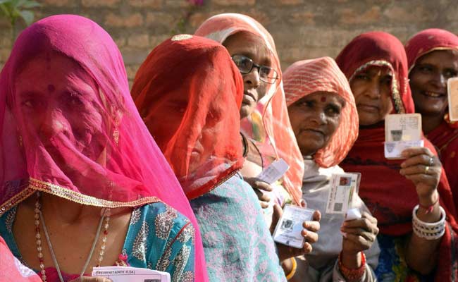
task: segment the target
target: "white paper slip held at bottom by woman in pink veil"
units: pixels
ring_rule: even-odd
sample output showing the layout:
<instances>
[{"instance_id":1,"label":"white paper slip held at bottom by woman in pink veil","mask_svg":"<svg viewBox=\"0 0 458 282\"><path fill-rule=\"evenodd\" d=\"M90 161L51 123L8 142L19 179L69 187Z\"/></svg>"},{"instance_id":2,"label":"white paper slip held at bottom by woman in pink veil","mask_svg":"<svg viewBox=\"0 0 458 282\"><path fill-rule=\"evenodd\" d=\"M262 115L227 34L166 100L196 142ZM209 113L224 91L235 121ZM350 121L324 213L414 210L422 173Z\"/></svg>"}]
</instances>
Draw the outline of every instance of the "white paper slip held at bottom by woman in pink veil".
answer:
<instances>
[{"instance_id":1,"label":"white paper slip held at bottom by woman in pink veil","mask_svg":"<svg viewBox=\"0 0 458 282\"><path fill-rule=\"evenodd\" d=\"M92 269L92 276L110 278L113 282L170 282L170 274L130 266L102 266Z\"/></svg>"}]
</instances>

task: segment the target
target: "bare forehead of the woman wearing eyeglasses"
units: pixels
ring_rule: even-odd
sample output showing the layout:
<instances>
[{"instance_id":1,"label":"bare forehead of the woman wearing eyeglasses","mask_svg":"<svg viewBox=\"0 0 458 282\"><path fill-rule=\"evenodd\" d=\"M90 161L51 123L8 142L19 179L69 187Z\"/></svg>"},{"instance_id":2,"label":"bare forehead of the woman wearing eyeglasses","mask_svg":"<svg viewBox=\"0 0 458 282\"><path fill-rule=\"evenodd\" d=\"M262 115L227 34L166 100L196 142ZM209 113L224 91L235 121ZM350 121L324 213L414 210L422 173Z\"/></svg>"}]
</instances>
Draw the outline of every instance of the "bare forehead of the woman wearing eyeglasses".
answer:
<instances>
[{"instance_id":1,"label":"bare forehead of the woman wearing eyeglasses","mask_svg":"<svg viewBox=\"0 0 458 282\"><path fill-rule=\"evenodd\" d=\"M223 45L228 49L229 54L242 54L249 56L254 61L271 62L271 51L262 37L251 32L237 32L230 35Z\"/></svg>"}]
</instances>

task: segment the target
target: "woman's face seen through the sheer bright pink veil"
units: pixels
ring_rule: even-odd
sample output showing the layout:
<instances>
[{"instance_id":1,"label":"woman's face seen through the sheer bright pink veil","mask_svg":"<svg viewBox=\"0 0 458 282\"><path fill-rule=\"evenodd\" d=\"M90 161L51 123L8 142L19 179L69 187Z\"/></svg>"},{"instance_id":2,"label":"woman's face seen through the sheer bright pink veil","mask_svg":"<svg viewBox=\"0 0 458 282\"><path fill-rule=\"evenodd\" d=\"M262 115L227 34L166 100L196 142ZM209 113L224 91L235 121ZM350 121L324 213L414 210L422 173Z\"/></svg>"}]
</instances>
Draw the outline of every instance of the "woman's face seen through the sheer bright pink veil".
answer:
<instances>
[{"instance_id":1,"label":"woman's face seen through the sheer bright pink veil","mask_svg":"<svg viewBox=\"0 0 458 282\"><path fill-rule=\"evenodd\" d=\"M39 56L27 62L14 87L25 118L22 134L37 136L30 140L41 142L54 159L62 147L99 157L106 135L97 86L78 63L58 54Z\"/></svg>"}]
</instances>

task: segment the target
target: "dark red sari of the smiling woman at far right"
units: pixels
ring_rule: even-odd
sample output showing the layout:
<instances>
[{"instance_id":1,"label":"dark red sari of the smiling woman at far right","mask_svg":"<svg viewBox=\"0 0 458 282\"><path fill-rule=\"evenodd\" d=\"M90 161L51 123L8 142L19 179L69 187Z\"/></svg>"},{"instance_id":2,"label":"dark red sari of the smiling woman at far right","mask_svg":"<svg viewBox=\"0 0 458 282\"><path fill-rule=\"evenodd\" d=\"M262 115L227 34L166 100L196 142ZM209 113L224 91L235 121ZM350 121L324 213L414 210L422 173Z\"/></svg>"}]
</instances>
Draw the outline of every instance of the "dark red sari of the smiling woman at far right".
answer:
<instances>
[{"instance_id":1,"label":"dark red sari of the smiling woman at far right","mask_svg":"<svg viewBox=\"0 0 458 282\"><path fill-rule=\"evenodd\" d=\"M409 39L405 44L409 71L414 68L416 61L422 56L436 50L458 50L458 37L447 30L430 28L423 30ZM447 116L447 115L445 115ZM458 123L451 123L447 118L428 133L428 139L439 151L442 167L447 175L452 194L454 195L455 209L458 207Z\"/></svg>"}]
</instances>

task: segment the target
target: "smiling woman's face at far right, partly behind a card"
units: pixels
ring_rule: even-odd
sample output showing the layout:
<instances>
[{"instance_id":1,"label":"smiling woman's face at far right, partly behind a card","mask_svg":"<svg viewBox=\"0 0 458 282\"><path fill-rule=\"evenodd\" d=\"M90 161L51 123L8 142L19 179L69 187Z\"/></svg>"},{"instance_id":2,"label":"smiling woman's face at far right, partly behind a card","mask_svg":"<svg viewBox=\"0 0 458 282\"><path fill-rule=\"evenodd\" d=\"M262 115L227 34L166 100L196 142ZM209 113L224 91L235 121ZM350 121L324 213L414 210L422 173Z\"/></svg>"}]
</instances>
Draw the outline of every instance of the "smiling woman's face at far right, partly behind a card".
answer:
<instances>
[{"instance_id":1,"label":"smiling woman's face at far right, partly behind a card","mask_svg":"<svg viewBox=\"0 0 458 282\"><path fill-rule=\"evenodd\" d=\"M457 50L437 50L421 56L409 74L416 111L426 116L444 116L447 80L457 75Z\"/></svg>"}]
</instances>

